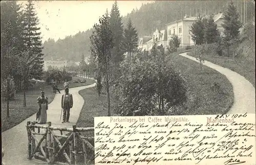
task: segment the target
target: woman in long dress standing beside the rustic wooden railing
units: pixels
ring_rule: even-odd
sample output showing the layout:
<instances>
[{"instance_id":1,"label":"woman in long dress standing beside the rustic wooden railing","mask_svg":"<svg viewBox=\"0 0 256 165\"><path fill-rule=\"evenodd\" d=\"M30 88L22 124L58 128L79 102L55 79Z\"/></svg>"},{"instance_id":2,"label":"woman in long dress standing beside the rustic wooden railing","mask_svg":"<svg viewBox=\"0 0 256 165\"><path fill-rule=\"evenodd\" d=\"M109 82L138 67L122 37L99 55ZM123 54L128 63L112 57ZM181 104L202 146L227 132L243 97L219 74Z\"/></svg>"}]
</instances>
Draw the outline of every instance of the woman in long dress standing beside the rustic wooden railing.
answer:
<instances>
[{"instance_id":1,"label":"woman in long dress standing beside the rustic wooden railing","mask_svg":"<svg viewBox=\"0 0 256 165\"><path fill-rule=\"evenodd\" d=\"M41 96L37 98L38 112L36 117L38 124L46 124L47 122L47 110L48 110L48 98L45 97L45 91L41 91Z\"/></svg>"}]
</instances>

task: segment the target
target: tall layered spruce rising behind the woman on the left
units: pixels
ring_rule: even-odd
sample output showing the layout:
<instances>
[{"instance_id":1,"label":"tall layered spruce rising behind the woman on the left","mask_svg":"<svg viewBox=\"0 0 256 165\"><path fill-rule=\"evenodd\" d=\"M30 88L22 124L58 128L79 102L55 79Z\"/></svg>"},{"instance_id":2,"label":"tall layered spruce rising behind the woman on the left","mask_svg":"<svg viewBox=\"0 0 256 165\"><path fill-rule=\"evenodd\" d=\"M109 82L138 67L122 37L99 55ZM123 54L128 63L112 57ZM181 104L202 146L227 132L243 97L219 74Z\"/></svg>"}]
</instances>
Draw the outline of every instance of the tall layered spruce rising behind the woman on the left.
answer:
<instances>
[{"instance_id":1,"label":"tall layered spruce rising behind the woman on the left","mask_svg":"<svg viewBox=\"0 0 256 165\"><path fill-rule=\"evenodd\" d=\"M24 51L30 52L30 56L37 56L35 59L35 65L30 73L30 78L40 79L42 76L42 66L44 61L42 56L42 42L40 37L40 28L38 28L39 20L36 16L34 4L32 1L28 1L26 4L26 9L23 16L23 37L25 42Z\"/></svg>"}]
</instances>

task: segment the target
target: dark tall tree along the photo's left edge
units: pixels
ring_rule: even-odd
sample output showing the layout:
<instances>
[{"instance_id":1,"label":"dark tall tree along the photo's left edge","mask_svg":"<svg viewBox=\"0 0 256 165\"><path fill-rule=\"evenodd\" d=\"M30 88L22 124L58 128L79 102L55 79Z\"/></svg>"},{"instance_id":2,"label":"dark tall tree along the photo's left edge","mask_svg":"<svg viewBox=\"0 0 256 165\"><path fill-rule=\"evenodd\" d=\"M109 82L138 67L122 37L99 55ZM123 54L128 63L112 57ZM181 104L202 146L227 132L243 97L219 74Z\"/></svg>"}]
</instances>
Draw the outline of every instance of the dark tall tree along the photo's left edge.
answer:
<instances>
[{"instance_id":1,"label":"dark tall tree along the photo's left edge","mask_svg":"<svg viewBox=\"0 0 256 165\"><path fill-rule=\"evenodd\" d=\"M11 93L15 93L18 72L19 53L22 48L20 35L20 6L16 1L1 2L1 89L7 99L7 117L9 115L9 100ZM16 82L15 82L16 81ZM21 79L19 79L21 81Z\"/></svg>"}]
</instances>

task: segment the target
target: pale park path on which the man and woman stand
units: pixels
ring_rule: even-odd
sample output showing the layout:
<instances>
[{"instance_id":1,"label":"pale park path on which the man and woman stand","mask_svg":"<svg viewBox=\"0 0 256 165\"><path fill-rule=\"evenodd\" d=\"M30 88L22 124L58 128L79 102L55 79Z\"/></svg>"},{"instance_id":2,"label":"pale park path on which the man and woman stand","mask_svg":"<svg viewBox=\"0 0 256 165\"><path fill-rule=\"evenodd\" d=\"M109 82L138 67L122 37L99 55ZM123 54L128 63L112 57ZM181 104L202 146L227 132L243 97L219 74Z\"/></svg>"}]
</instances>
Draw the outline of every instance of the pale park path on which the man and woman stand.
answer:
<instances>
[{"instance_id":1,"label":"pale park path on which the man and woman stand","mask_svg":"<svg viewBox=\"0 0 256 165\"><path fill-rule=\"evenodd\" d=\"M72 125L76 125L78 120L81 108L83 106L84 100L79 95L78 91L94 87L95 83L92 85L80 86L75 88L70 88L69 92L73 95L74 105L70 110L70 123L62 124L60 119L61 112L61 96L64 93L64 90L61 90L61 93L56 93L53 101L49 104L49 109L47 110L47 120L52 122L53 127L68 127L72 128ZM39 95L39 93L38 93ZM35 98L36 101L36 98ZM2 133L2 148L5 150L3 157L4 165L14 165L14 164L47 164L44 161L32 159L27 159L28 151L28 134L27 134L27 121L35 121L36 115L30 116L28 119L24 120L22 123L17 126L5 131ZM62 117L61 117L62 119Z\"/></svg>"}]
</instances>

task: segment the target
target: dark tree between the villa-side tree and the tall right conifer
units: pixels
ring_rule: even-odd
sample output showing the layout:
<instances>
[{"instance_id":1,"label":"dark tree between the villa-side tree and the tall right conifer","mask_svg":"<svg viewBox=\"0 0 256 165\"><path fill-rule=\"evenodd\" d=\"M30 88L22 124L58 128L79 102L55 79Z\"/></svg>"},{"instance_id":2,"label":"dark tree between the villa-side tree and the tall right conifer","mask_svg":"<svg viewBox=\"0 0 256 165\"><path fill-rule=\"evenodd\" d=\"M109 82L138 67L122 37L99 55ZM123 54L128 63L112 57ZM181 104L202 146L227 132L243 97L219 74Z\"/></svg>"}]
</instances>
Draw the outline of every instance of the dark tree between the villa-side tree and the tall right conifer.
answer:
<instances>
[{"instance_id":1,"label":"dark tree between the villa-side tree and the tall right conifer","mask_svg":"<svg viewBox=\"0 0 256 165\"><path fill-rule=\"evenodd\" d=\"M217 25L214 22L212 16L207 19L204 29L204 39L206 43L213 43L217 41L217 37L219 36L219 31L217 29Z\"/></svg>"}]
</instances>

